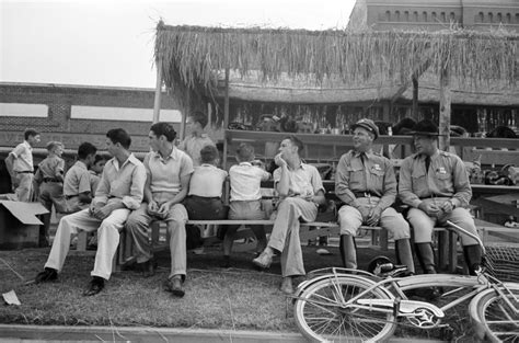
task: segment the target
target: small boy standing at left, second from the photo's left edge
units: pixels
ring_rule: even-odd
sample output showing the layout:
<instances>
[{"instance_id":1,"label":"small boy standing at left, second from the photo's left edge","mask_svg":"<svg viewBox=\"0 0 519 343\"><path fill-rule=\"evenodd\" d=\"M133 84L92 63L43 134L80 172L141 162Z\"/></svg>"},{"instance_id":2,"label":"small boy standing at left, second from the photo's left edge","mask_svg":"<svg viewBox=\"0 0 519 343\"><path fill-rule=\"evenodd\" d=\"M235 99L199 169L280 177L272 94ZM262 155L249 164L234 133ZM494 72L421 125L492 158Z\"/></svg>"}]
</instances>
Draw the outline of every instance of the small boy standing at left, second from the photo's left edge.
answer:
<instances>
[{"instance_id":1,"label":"small boy standing at left, second from the photo's left edge","mask_svg":"<svg viewBox=\"0 0 519 343\"><path fill-rule=\"evenodd\" d=\"M56 213L67 210L64 196L65 160L61 158L64 145L60 141L49 141L47 150L48 156L39 162L38 170L34 175L35 182L39 184L38 201L49 211L43 215L44 225L39 232L39 247L49 245L48 229L53 205Z\"/></svg>"}]
</instances>

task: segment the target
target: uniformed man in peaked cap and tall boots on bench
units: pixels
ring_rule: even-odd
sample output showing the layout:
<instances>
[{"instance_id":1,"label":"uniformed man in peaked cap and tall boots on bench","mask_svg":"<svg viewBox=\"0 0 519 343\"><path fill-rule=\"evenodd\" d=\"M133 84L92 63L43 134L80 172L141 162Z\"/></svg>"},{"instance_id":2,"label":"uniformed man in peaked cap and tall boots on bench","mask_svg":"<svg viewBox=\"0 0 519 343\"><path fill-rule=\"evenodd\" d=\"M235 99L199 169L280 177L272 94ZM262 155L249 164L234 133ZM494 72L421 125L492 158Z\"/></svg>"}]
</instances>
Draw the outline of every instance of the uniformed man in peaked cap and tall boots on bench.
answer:
<instances>
[{"instance_id":1,"label":"uniformed man in peaked cap and tall boots on bench","mask_svg":"<svg viewBox=\"0 0 519 343\"><path fill-rule=\"evenodd\" d=\"M338 211L341 256L347 268L357 268L354 237L359 227L379 225L394 237L396 259L414 273L410 226L391 205L396 198L396 178L391 161L372 150L379 128L371 119L351 126L354 149L341 157L335 174L335 194L346 205Z\"/></svg>"}]
</instances>

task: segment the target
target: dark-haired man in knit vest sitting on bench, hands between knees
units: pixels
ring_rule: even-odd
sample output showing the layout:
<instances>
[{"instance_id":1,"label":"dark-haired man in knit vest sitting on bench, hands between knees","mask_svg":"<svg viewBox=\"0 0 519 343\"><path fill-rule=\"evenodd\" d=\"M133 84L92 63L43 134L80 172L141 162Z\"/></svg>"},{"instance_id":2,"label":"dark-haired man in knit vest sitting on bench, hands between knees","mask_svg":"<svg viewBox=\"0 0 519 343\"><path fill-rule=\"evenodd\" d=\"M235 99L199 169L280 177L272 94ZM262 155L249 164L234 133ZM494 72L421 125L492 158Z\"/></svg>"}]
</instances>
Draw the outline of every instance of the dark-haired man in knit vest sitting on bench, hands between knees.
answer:
<instances>
[{"instance_id":1,"label":"dark-haired man in knit vest sitting on bench, hands between knees","mask_svg":"<svg viewBox=\"0 0 519 343\"><path fill-rule=\"evenodd\" d=\"M193 161L173 145L176 133L168 123L155 123L148 135L152 152L145 157L147 173L145 202L130 214L126 229L134 238L137 263L145 276L154 272L153 252L148 240L148 227L153 219L165 220L170 233L171 273L165 289L183 297L186 275L187 211L181 203L187 195L193 174Z\"/></svg>"}]
</instances>

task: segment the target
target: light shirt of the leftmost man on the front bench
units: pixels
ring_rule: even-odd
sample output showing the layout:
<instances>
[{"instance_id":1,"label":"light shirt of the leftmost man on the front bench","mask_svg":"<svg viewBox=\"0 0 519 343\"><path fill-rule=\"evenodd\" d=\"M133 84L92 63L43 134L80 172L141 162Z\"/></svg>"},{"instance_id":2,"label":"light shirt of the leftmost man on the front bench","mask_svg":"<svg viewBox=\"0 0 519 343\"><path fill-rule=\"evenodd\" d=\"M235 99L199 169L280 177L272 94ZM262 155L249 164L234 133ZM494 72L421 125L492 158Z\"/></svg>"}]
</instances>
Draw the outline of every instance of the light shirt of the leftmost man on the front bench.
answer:
<instances>
[{"instance_id":1,"label":"light shirt of the leftmost man on the front bench","mask_svg":"<svg viewBox=\"0 0 519 343\"><path fill-rule=\"evenodd\" d=\"M129 209L137 209L145 195L146 168L132 153L119 165L116 158L104 165L92 203L111 204L122 201Z\"/></svg>"}]
</instances>

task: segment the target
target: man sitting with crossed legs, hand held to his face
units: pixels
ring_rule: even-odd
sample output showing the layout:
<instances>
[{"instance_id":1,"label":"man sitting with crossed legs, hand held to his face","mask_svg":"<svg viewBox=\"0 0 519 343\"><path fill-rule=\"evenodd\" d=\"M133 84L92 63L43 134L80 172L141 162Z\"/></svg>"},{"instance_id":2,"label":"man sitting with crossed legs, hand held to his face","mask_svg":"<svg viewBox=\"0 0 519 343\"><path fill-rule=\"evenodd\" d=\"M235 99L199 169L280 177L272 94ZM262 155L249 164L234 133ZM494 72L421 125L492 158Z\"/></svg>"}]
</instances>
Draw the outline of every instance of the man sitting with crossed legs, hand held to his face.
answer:
<instances>
[{"instance_id":1,"label":"man sitting with crossed legs, hand held to his face","mask_svg":"<svg viewBox=\"0 0 519 343\"><path fill-rule=\"evenodd\" d=\"M293 276L305 274L299 241L299 219L314 221L318 206L325 201L321 175L315 167L301 161L302 150L302 141L289 136L281 141L280 152L274 158L279 167L274 171L274 186L280 198L277 217L267 248L253 260L256 266L267 268L274 255L281 253L280 290L285 294L293 293Z\"/></svg>"}]
</instances>

